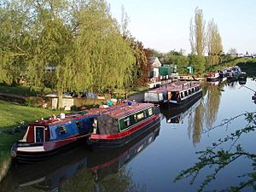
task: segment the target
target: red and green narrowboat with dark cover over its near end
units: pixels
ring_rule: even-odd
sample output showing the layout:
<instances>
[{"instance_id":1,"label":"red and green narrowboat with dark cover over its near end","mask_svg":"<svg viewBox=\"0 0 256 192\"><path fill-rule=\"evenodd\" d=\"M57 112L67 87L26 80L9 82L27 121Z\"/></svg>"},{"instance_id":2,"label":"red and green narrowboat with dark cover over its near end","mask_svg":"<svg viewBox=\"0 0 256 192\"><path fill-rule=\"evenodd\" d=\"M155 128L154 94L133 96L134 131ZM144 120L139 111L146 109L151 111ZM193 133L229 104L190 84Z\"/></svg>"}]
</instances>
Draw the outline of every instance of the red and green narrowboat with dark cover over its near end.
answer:
<instances>
[{"instance_id":1,"label":"red and green narrowboat with dark cover over its near end","mask_svg":"<svg viewBox=\"0 0 256 192\"><path fill-rule=\"evenodd\" d=\"M159 121L158 106L128 102L121 108L113 108L96 116L94 130L87 143L92 150L121 147Z\"/></svg>"}]
</instances>

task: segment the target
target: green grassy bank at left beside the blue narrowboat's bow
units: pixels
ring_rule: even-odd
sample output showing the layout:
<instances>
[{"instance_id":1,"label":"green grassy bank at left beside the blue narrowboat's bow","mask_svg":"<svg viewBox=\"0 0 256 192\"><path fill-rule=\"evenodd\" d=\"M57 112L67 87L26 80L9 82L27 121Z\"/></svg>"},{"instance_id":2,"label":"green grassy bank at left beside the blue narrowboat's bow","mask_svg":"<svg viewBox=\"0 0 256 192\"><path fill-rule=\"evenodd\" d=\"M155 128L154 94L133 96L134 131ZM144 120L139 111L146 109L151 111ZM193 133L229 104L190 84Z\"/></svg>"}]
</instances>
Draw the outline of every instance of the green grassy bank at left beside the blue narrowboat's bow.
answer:
<instances>
[{"instance_id":1,"label":"green grassy bank at left beside the blue narrowboat's bow","mask_svg":"<svg viewBox=\"0 0 256 192\"><path fill-rule=\"evenodd\" d=\"M11 102L0 101L0 181L4 172L8 169L9 150L13 143L23 137L28 122L42 117L49 117L52 113L49 109L30 108Z\"/></svg>"}]
</instances>

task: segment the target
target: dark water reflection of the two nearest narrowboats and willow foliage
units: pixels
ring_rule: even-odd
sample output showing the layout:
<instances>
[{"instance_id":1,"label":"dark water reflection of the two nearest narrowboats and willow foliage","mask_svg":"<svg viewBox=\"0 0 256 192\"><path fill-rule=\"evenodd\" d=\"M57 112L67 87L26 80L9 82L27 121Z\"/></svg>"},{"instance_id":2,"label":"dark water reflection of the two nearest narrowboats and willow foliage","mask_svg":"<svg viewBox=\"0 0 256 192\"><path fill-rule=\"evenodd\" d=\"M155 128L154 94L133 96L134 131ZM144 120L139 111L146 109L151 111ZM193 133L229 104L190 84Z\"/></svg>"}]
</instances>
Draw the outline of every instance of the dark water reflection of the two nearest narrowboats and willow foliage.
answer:
<instances>
[{"instance_id":1,"label":"dark water reflection of the two nearest narrowboats and willow foliage","mask_svg":"<svg viewBox=\"0 0 256 192\"><path fill-rule=\"evenodd\" d=\"M76 148L53 160L14 166L1 191L143 191L122 167L159 136L160 124L113 150Z\"/></svg>"}]
</instances>

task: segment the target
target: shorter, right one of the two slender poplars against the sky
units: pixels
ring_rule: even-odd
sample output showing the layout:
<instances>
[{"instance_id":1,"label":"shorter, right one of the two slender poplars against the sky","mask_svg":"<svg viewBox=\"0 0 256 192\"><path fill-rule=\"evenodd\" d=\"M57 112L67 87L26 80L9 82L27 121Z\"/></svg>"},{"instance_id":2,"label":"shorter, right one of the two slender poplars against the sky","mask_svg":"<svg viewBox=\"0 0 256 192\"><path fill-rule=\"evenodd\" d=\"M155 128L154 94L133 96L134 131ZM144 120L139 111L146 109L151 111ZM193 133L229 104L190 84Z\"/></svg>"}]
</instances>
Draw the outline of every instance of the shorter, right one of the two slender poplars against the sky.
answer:
<instances>
[{"instance_id":1,"label":"shorter, right one of the two slender poplars against the sky","mask_svg":"<svg viewBox=\"0 0 256 192\"><path fill-rule=\"evenodd\" d=\"M207 26L207 50L209 66L217 65L223 52L223 46L218 26L214 20L210 20Z\"/></svg>"}]
</instances>

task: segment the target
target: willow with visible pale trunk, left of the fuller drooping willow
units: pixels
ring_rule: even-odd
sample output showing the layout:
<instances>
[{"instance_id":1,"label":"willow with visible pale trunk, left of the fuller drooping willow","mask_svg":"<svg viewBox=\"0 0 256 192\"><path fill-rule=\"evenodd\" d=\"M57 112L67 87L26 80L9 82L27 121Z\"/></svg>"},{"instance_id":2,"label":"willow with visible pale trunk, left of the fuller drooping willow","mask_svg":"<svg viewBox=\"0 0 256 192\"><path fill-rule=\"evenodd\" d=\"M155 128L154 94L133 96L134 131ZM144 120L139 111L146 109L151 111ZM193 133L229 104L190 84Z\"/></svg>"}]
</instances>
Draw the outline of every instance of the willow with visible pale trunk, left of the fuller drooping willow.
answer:
<instances>
[{"instance_id":1,"label":"willow with visible pale trunk, left of the fuller drooping willow","mask_svg":"<svg viewBox=\"0 0 256 192\"><path fill-rule=\"evenodd\" d=\"M30 32L32 35L30 57L26 61L28 84L44 87L46 67L55 67L51 78L59 96L61 107L62 93L67 90L70 73L67 73L67 60L72 49L72 31L68 27L68 6L64 0L26 1L30 12ZM47 79L49 81L49 79Z\"/></svg>"}]
</instances>

